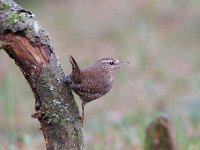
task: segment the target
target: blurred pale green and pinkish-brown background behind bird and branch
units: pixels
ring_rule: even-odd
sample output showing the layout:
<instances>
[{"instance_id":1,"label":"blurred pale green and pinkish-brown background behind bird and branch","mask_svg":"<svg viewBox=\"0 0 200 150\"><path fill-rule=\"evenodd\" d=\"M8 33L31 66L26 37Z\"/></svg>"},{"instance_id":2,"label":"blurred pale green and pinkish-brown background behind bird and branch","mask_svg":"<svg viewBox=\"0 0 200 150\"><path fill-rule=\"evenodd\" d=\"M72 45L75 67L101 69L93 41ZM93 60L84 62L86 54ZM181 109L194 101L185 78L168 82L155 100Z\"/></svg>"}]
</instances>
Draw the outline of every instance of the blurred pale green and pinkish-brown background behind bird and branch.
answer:
<instances>
[{"instance_id":1,"label":"blurred pale green and pinkish-brown background behind bird and branch","mask_svg":"<svg viewBox=\"0 0 200 150\"><path fill-rule=\"evenodd\" d=\"M86 150L143 150L158 115L174 123L180 150L200 148L200 0L24 0L51 37L66 73L102 57L130 61L112 90L86 105ZM79 98L76 101L80 104ZM45 149L34 97L0 51L0 150Z\"/></svg>"}]
</instances>

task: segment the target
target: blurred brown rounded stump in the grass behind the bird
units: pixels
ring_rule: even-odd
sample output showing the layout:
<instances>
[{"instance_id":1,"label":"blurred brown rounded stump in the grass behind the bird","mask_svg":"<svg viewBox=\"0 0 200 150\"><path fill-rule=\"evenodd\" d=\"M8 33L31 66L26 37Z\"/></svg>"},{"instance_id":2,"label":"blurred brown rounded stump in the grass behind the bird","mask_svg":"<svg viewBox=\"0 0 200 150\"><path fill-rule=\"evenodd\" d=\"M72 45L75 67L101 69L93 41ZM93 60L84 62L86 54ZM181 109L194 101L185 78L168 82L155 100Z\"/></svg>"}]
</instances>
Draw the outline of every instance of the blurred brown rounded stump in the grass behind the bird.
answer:
<instances>
[{"instance_id":1,"label":"blurred brown rounded stump in the grass behind the bird","mask_svg":"<svg viewBox=\"0 0 200 150\"><path fill-rule=\"evenodd\" d=\"M146 129L145 150L177 150L175 139L171 121L160 116Z\"/></svg>"}]
</instances>

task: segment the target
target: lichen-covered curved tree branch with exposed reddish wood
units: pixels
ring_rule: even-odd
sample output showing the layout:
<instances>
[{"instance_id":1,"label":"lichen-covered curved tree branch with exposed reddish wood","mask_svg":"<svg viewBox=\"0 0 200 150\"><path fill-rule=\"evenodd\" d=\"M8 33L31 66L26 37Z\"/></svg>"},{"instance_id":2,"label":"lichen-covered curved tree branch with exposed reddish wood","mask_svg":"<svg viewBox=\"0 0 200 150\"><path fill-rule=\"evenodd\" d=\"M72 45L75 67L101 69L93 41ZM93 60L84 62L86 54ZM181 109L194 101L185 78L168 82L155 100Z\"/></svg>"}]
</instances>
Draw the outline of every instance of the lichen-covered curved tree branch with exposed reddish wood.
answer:
<instances>
[{"instance_id":1,"label":"lichen-covered curved tree branch with exposed reddish wood","mask_svg":"<svg viewBox=\"0 0 200 150\"><path fill-rule=\"evenodd\" d=\"M0 49L21 69L35 96L32 116L38 118L48 150L83 149L79 111L48 35L34 15L12 0L0 0Z\"/></svg>"}]
</instances>

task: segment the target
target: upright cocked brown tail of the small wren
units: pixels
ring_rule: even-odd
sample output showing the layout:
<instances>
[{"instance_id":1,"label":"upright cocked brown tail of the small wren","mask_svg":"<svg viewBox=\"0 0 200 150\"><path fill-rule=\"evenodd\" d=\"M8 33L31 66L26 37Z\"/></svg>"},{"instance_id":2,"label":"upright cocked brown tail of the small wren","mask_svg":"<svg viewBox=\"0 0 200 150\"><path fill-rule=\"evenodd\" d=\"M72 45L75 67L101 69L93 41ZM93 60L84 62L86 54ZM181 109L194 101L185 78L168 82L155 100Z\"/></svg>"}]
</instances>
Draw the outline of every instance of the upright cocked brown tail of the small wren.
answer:
<instances>
[{"instance_id":1,"label":"upright cocked brown tail of the small wren","mask_svg":"<svg viewBox=\"0 0 200 150\"><path fill-rule=\"evenodd\" d=\"M69 61L72 65L72 80L74 81L74 83L81 83L81 71L80 68L78 66L78 64L76 63L75 59L69 55Z\"/></svg>"}]
</instances>

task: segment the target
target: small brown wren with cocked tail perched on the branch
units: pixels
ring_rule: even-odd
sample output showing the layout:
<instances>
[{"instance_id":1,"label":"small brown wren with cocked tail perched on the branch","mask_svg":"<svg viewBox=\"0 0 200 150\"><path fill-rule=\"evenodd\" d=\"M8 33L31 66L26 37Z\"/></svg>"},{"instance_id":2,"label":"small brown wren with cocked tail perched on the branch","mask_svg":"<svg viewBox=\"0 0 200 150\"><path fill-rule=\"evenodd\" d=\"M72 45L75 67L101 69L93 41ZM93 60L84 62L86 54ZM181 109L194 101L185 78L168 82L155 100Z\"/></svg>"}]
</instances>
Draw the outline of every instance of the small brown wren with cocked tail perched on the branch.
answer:
<instances>
[{"instance_id":1,"label":"small brown wren with cocked tail perched on the branch","mask_svg":"<svg viewBox=\"0 0 200 150\"><path fill-rule=\"evenodd\" d=\"M82 117L84 120L84 106L90 101L96 100L110 91L115 72L127 61L119 61L113 58L102 58L92 65L79 67L72 56L69 56L72 65L71 74L65 76L64 81L82 100Z\"/></svg>"}]
</instances>

